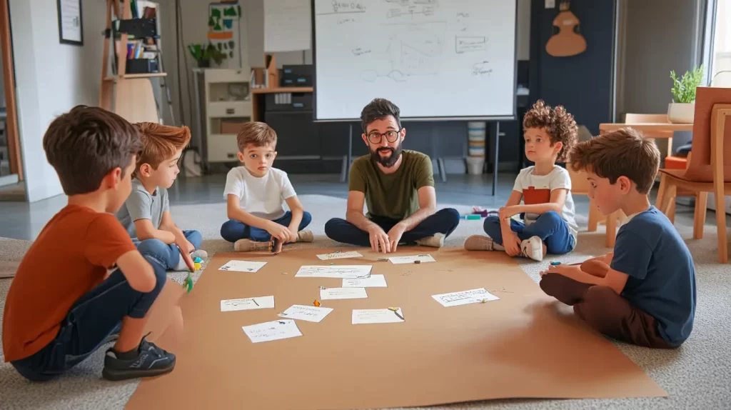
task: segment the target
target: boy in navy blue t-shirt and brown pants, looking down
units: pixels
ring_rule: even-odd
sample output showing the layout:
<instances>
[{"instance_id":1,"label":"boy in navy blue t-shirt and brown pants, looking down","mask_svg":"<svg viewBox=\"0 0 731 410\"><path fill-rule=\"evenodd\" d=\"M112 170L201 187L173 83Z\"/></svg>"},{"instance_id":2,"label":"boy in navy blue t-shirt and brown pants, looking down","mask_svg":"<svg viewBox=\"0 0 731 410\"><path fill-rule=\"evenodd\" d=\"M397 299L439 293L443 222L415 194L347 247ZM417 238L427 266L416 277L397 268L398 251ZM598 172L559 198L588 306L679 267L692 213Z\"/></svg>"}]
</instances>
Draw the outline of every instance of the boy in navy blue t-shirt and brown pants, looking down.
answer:
<instances>
[{"instance_id":1,"label":"boy in navy blue t-shirt and brown pants, looking down","mask_svg":"<svg viewBox=\"0 0 731 410\"><path fill-rule=\"evenodd\" d=\"M585 170L589 197L609 215L627 219L613 253L580 266L552 266L540 286L599 332L627 343L674 348L693 329L695 268L688 247L648 193L660 153L634 129L575 145L572 167Z\"/></svg>"}]
</instances>

